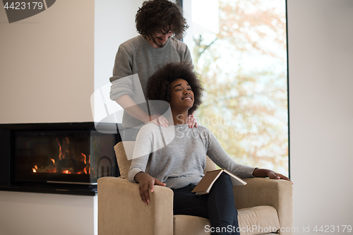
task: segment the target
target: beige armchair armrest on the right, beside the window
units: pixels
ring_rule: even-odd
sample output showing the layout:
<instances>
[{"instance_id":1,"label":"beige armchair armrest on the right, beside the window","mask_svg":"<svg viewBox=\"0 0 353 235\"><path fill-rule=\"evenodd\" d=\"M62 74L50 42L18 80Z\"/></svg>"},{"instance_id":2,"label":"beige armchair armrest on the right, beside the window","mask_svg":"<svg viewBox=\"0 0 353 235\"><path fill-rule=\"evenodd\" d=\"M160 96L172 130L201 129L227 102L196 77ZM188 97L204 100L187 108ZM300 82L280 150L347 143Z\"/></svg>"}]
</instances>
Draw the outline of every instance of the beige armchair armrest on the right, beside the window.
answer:
<instances>
[{"instance_id":1,"label":"beige armchair armrest on the right, beside the window","mask_svg":"<svg viewBox=\"0 0 353 235\"><path fill-rule=\"evenodd\" d=\"M280 234L292 234L293 201L292 183L282 179L251 178L244 179L246 186L233 186L234 200L237 209L270 205L276 208L280 227L284 231Z\"/></svg>"}]
</instances>

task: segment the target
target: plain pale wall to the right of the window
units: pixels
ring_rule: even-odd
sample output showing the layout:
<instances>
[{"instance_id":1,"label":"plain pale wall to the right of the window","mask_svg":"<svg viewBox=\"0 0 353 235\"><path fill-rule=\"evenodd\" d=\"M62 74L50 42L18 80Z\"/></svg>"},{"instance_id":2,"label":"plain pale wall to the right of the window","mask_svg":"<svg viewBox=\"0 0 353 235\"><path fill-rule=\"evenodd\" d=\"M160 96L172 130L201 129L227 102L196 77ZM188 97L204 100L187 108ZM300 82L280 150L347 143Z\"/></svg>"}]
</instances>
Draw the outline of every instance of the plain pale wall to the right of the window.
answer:
<instances>
[{"instance_id":1,"label":"plain pale wall to the right of the window","mask_svg":"<svg viewBox=\"0 0 353 235\"><path fill-rule=\"evenodd\" d=\"M353 1L287 0L287 10L294 227L343 234L353 225Z\"/></svg>"}]
</instances>

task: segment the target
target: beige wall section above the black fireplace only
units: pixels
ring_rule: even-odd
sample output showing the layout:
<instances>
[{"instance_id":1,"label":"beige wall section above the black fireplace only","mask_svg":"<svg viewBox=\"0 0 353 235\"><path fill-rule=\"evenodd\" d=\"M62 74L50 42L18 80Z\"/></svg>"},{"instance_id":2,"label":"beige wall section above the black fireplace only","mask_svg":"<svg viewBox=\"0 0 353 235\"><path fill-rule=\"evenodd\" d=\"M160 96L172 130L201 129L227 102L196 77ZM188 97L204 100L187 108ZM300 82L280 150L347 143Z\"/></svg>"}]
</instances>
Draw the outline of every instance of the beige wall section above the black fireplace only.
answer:
<instances>
[{"instance_id":1,"label":"beige wall section above the black fireplace only","mask_svg":"<svg viewBox=\"0 0 353 235\"><path fill-rule=\"evenodd\" d=\"M92 121L94 11L61 0L9 24L0 7L0 123Z\"/></svg>"}]
</instances>

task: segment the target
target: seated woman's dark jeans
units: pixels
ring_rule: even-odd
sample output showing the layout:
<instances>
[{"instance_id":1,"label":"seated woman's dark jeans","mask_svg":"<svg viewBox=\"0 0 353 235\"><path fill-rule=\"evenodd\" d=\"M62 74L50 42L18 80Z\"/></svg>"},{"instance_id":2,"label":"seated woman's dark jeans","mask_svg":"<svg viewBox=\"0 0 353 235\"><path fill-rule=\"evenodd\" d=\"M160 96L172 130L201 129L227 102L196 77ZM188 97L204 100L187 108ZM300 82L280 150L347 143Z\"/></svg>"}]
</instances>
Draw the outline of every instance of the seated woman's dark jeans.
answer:
<instances>
[{"instance_id":1,"label":"seated woman's dark jeans","mask_svg":"<svg viewBox=\"0 0 353 235\"><path fill-rule=\"evenodd\" d=\"M195 185L173 189L174 215L194 215L210 219L212 234L237 234L238 212L234 205L233 186L230 176L222 173L213 184L210 193L195 195ZM206 228L205 228L206 230ZM220 232L218 232L220 231Z\"/></svg>"}]
</instances>

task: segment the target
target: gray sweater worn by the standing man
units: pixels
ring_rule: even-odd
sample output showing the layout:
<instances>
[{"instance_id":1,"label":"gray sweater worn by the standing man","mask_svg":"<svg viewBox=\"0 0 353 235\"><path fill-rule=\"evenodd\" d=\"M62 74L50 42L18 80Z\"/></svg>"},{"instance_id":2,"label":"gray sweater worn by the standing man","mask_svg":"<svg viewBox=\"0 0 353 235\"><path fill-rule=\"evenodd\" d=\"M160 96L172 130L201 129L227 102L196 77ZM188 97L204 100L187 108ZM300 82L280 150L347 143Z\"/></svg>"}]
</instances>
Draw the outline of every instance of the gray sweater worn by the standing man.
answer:
<instances>
[{"instance_id":1,"label":"gray sweater worn by the standing man","mask_svg":"<svg viewBox=\"0 0 353 235\"><path fill-rule=\"evenodd\" d=\"M110 78L110 99L129 95L148 113L146 86L158 66L169 62L190 61L191 54L184 42L170 38L164 47L154 48L142 35L122 43L116 53L113 76ZM123 126L136 127L144 123L124 112Z\"/></svg>"}]
</instances>

